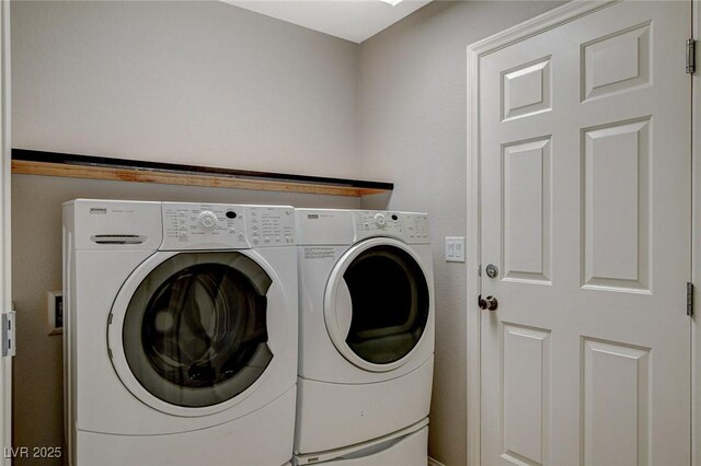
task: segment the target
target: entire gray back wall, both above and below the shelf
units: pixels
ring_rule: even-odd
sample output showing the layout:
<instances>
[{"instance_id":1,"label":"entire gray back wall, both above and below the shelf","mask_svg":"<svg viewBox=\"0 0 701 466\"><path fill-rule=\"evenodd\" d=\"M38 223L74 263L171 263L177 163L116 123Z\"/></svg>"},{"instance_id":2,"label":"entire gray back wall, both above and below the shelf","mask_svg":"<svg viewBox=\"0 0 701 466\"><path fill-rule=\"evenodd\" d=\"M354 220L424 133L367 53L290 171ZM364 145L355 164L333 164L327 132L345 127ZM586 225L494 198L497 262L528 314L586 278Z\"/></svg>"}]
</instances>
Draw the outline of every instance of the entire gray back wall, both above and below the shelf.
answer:
<instances>
[{"instance_id":1,"label":"entire gray back wall, both above and below the shelf","mask_svg":"<svg viewBox=\"0 0 701 466\"><path fill-rule=\"evenodd\" d=\"M357 45L220 2L13 2L18 148L356 177ZM14 175L14 445L62 444L60 205L355 198ZM16 464L39 461L18 461ZM59 462L55 462L59 464Z\"/></svg>"}]
</instances>

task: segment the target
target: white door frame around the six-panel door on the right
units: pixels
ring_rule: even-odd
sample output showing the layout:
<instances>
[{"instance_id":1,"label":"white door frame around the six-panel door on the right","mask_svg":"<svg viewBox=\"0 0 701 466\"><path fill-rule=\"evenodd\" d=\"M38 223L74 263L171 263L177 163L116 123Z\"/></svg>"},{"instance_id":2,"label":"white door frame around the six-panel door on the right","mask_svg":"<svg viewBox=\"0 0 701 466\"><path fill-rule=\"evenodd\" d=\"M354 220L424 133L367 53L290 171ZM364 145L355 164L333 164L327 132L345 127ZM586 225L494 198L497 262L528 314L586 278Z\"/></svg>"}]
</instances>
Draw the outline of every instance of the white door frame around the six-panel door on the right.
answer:
<instances>
[{"instance_id":1,"label":"white door frame around the six-panel door on the right","mask_svg":"<svg viewBox=\"0 0 701 466\"><path fill-rule=\"evenodd\" d=\"M480 329L482 313L478 307L476 298L480 294L479 267L480 258L480 151L478 125L480 115L479 101L479 60L480 57L494 53L517 42L527 39L537 34L554 28L562 24L589 14L601 8L609 7L620 0L614 1L579 1L574 0L565 3L544 14L536 16L529 21L514 27L497 33L491 37L472 44L468 47L468 176L467 176L467 343L468 343L468 465L480 465ZM692 0L693 36L699 37L701 32L701 0ZM681 50L683 44L679 45ZM681 51L679 54L682 57ZM680 60L679 66L683 66ZM701 82L699 73L693 77L693 179L692 179L692 238L699 238L701 234L701 202L693 201L701 196L701 144L698 142L701 137ZM701 246L698 241L692 245L692 281L697 288L701 286ZM697 291L697 296L701 294ZM701 298L700 298L701 299ZM701 311L698 311L701 314ZM692 323L692 393L701 389L701 316L697 316ZM699 439L699 427L701 427L701 397L692 399L692 453L691 462L693 466L701 466L701 439Z\"/></svg>"}]
</instances>

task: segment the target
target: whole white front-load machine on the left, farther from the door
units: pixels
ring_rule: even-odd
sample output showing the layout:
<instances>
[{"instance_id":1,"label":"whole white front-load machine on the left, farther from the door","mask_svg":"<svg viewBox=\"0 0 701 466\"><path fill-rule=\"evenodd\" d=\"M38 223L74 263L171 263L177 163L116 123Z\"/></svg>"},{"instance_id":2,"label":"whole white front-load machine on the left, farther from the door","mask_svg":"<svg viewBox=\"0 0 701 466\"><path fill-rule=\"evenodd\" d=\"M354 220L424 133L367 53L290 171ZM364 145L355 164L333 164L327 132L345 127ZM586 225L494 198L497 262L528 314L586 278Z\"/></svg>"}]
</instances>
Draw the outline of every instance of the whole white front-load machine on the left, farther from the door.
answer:
<instances>
[{"instance_id":1,"label":"whole white front-load machine on the left, farther from the door","mask_svg":"<svg viewBox=\"0 0 701 466\"><path fill-rule=\"evenodd\" d=\"M70 201L64 278L71 465L291 458L292 208Z\"/></svg>"}]
</instances>

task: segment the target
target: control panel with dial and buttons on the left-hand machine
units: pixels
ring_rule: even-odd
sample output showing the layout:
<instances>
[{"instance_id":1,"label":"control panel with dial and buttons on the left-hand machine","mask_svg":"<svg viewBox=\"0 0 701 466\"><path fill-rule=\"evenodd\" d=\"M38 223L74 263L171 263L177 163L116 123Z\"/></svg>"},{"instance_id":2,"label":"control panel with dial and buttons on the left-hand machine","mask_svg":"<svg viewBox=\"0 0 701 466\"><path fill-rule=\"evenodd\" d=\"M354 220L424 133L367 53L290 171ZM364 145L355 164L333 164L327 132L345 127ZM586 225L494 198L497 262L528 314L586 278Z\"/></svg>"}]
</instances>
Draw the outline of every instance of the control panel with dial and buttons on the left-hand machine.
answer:
<instances>
[{"instance_id":1,"label":"control panel with dial and buttons on the left-hand machine","mask_svg":"<svg viewBox=\"0 0 701 466\"><path fill-rule=\"evenodd\" d=\"M222 249L295 244L294 208L163 202L161 249Z\"/></svg>"}]
</instances>

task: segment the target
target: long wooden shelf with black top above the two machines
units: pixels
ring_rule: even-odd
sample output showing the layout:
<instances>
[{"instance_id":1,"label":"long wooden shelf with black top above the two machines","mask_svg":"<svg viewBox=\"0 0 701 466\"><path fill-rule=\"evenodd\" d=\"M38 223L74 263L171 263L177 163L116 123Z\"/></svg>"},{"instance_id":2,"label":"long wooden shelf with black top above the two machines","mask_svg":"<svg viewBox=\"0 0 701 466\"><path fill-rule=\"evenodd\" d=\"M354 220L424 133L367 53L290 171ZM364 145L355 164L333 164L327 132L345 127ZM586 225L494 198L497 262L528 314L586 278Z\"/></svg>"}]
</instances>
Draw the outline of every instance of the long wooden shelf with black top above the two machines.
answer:
<instances>
[{"instance_id":1,"label":"long wooden shelf with black top above the two machines","mask_svg":"<svg viewBox=\"0 0 701 466\"><path fill-rule=\"evenodd\" d=\"M12 173L354 197L389 193L394 188L392 183L382 182L251 172L27 149L12 149Z\"/></svg>"}]
</instances>

